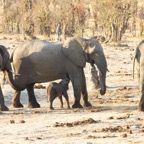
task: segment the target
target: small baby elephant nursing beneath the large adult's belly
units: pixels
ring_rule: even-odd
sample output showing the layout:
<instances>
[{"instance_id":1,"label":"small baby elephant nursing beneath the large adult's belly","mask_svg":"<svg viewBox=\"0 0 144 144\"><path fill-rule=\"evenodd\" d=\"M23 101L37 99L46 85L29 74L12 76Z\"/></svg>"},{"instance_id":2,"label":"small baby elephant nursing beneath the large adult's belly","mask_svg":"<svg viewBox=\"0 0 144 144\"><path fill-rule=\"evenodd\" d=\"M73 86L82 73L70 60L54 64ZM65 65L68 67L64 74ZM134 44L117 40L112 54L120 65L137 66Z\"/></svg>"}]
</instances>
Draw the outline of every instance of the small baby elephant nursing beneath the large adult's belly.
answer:
<instances>
[{"instance_id":1,"label":"small baby elephant nursing beneath the large adult's belly","mask_svg":"<svg viewBox=\"0 0 144 144\"><path fill-rule=\"evenodd\" d=\"M69 106L69 98L67 94L68 84L69 84L69 79L65 78L62 79L59 83L52 82L49 84L47 88L47 97L49 98L50 101L50 109L53 110L53 101L56 97L59 98L61 105L60 107L63 108L63 100L62 100L62 95L65 97L66 102L67 102L67 107L70 108Z\"/></svg>"}]
</instances>

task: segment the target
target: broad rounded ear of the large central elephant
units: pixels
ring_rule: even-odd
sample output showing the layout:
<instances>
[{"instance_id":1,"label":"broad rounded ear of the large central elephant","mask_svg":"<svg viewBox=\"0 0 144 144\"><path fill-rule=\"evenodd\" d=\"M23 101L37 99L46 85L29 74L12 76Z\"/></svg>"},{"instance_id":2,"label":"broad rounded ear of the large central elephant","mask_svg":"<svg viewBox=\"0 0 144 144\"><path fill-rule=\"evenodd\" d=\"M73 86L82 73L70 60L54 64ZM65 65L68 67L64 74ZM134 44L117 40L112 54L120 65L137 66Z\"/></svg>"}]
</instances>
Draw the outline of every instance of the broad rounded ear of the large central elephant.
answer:
<instances>
[{"instance_id":1,"label":"broad rounded ear of the large central elephant","mask_svg":"<svg viewBox=\"0 0 144 144\"><path fill-rule=\"evenodd\" d=\"M80 67L85 67L86 60L84 57L83 47L75 38L70 38L63 44L63 53L70 61Z\"/></svg>"}]
</instances>

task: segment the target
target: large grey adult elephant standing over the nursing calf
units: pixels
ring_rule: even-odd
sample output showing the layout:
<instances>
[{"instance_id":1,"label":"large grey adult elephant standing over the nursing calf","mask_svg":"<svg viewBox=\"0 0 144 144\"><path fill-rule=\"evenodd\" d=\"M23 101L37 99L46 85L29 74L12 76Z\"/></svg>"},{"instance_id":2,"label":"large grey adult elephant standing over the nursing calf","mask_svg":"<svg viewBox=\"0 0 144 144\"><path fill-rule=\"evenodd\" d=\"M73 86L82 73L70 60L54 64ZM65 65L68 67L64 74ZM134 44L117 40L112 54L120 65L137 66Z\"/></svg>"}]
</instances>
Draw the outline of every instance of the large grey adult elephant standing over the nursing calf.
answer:
<instances>
[{"instance_id":1,"label":"large grey adult elephant standing over the nursing calf","mask_svg":"<svg viewBox=\"0 0 144 144\"><path fill-rule=\"evenodd\" d=\"M12 104L22 107L20 91L27 89L29 107L38 108L34 94L34 84L63 79L68 76L72 82L75 101L73 108L81 108L80 97L84 106L88 101L84 67L86 62L96 64L99 70L100 94L106 92L107 62L101 44L95 39L70 38L64 43L53 43L42 40L30 41L16 48L12 54L16 77L8 72L8 79L15 91Z\"/></svg>"}]
</instances>

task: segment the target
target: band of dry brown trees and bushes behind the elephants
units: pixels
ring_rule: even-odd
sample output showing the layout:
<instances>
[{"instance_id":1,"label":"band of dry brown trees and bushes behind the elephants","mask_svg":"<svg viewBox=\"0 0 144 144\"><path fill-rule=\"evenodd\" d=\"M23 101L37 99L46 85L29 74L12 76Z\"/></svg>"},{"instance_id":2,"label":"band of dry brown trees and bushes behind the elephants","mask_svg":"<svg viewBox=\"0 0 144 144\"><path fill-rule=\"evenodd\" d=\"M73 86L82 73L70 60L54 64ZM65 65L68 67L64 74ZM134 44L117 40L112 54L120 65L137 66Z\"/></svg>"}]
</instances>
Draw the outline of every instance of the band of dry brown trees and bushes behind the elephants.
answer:
<instances>
[{"instance_id":1,"label":"band of dry brown trees and bushes behind the elephants","mask_svg":"<svg viewBox=\"0 0 144 144\"><path fill-rule=\"evenodd\" d=\"M51 37L58 23L63 37L104 35L119 42L129 31L143 36L144 1L0 0L1 33Z\"/></svg>"}]
</instances>

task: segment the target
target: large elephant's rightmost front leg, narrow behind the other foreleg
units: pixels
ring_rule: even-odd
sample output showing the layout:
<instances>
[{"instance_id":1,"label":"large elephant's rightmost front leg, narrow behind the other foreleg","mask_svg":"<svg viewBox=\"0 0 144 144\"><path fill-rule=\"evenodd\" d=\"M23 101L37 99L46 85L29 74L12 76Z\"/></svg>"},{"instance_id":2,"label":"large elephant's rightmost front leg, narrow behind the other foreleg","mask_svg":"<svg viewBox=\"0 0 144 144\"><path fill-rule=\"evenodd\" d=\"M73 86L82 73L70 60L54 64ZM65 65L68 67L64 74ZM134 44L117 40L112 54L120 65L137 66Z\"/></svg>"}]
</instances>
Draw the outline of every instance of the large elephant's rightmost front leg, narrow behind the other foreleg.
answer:
<instances>
[{"instance_id":1,"label":"large elephant's rightmost front leg, narrow behind the other foreleg","mask_svg":"<svg viewBox=\"0 0 144 144\"><path fill-rule=\"evenodd\" d=\"M82 75L82 96L84 100L84 106L85 107L92 107L91 103L88 101L88 92L87 92L87 86L86 86L86 79L83 71Z\"/></svg>"}]
</instances>

